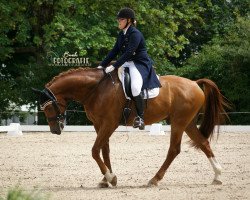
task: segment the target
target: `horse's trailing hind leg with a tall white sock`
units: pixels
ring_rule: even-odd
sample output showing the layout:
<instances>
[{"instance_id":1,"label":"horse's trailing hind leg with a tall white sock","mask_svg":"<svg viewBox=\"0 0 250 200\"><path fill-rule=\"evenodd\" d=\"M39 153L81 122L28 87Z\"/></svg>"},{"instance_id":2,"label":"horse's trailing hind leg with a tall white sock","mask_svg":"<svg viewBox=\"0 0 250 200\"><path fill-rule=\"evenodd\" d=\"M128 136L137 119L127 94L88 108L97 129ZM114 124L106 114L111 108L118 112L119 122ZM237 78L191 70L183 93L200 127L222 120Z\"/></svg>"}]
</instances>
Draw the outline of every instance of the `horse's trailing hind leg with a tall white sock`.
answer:
<instances>
[{"instance_id":1,"label":"horse's trailing hind leg with a tall white sock","mask_svg":"<svg viewBox=\"0 0 250 200\"><path fill-rule=\"evenodd\" d=\"M215 177L212 184L222 184L220 180L221 175L221 165L217 162L215 159L215 156L213 154L213 151L210 147L209 141L207 138L205 138L199 129L197 128L194 121L192 121L188 127L186 128L185 132L187 135L194 141L195 145L200 148L207 156L209 162L211 163Z\"/></svg>"}]
</instances>

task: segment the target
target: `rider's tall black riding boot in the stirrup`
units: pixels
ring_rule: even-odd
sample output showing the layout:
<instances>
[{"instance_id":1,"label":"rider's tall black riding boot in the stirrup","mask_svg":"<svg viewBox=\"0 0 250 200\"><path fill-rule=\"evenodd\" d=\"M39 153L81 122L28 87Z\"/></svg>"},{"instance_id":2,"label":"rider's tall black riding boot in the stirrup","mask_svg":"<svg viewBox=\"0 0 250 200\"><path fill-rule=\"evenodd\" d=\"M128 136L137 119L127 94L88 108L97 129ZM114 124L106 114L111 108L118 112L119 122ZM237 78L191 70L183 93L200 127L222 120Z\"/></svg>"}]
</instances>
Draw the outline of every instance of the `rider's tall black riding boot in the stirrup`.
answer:
<instances>
[{"instance_id":1,"label":"rider's tall black riding boot in the stirrup","mask_svg":"<svg viewBox=\"0 0 250 200\"><path fill-rule=\"evenodd\" d=\"M143 94L140 93L138 96L134 97L135 101L135 108L137 112L137 117L134 120L134 128L138 128L140 130L145 129L145 124L143 120L143 114L144 114L144 99L143 99Z\"/></svg>"}]
</instances>

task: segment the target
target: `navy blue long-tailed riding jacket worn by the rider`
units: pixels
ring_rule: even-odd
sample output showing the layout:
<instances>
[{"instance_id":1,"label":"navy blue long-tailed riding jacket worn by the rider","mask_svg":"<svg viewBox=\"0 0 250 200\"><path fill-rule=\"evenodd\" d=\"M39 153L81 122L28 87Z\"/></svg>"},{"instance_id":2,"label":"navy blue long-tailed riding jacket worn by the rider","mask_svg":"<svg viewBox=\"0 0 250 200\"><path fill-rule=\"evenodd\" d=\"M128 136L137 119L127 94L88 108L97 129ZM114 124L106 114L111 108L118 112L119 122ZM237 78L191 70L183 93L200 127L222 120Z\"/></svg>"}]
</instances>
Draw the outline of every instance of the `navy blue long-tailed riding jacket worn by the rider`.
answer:
<instances>
[{"instance_id":1,"label":"navy blue long-tailed riding jacket worn by the rider","mask_svg":"<svg viewBox=\"0 0 250 200\"><path fill-rule=\"evenodd\" d=\"M161 87L152 66L153 62L147 54L145 39L142 33L134 26L130 26L125 35L123 31L119 32L113 49L100 65L107 67L118 54L120 54L120 57L113 66L119 68L125 62L133 61L143 79L142 90Z\"/></svg>"}]
</instances>

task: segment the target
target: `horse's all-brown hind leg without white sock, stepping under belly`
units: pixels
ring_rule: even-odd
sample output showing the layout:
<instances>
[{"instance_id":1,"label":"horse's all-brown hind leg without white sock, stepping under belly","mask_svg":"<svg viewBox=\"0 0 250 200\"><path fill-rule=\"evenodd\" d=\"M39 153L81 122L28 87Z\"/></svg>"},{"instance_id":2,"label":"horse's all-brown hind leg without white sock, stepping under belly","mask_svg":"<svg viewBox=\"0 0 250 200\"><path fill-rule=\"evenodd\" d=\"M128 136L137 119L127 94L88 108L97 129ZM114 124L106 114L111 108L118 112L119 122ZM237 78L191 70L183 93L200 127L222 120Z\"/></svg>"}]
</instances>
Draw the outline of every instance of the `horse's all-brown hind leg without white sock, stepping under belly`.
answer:
<instances>
[{"instance_id":1,"label":"horse's all-brown hind leg without white sock, stepping under belly","mask_svg":"<svg viewBox=\"0 0 250 200\"><path fill-rule=\"evenodd\" d=\"M182 135L183 130L180 130L175 127L171 128L170 147L168 150L167 158L159 169L159 171L156 173L156 175L149 181L149 186L158 185L158 182L163 178L166 173L166 170L168 169L172 161L180 153Z\"/></svg>"}]
</instances>

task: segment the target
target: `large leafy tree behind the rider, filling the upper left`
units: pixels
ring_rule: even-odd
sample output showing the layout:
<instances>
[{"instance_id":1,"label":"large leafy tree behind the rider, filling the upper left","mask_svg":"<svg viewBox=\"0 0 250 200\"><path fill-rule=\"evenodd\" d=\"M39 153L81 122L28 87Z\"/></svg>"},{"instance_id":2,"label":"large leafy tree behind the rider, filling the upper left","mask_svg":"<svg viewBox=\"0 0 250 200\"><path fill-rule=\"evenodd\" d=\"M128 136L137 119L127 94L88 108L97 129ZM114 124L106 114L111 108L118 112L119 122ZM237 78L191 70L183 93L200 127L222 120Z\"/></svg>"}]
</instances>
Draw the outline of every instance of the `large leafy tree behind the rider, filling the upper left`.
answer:
<instances>
[{"instance_id":1,"label":"large leafy tree behind the rider, filling the upper left","mask_svg":"<svg viewBox=\"0 0 250 200\"><path fill-rule=\"evenodd\" d=\"M177 8L174 10L172 4L165 5L159 0L154 3L146 0L1 1L0 75L3 92L0 100L3 103L0 110L10 109L12 103L16 106L34 104L36 97L30 87L41 89L53 76L70 68L50 66L48 54L51 52L61 56L65 51L77 51L81 56L89 57L92 63L102 60L115 42L119 31L116 14L124 6L136 11L138 28L145 33L156 66L161 63L166 67L168 61L164 58L178 56L188 43L183 35L175 34L178 21L185 15ZM158 69L165 72L163 67Z\"/></svg>"}]
</instances>

